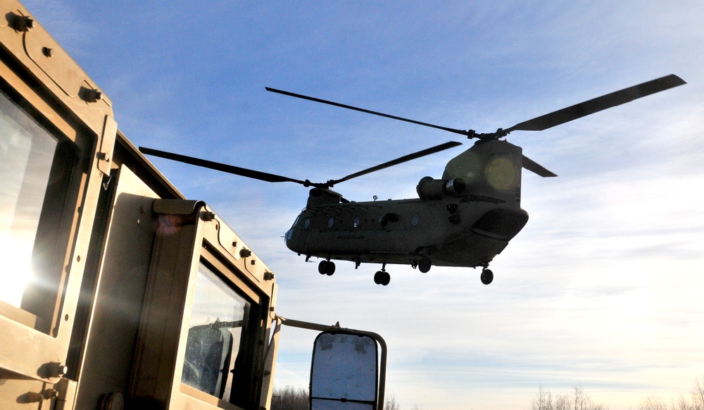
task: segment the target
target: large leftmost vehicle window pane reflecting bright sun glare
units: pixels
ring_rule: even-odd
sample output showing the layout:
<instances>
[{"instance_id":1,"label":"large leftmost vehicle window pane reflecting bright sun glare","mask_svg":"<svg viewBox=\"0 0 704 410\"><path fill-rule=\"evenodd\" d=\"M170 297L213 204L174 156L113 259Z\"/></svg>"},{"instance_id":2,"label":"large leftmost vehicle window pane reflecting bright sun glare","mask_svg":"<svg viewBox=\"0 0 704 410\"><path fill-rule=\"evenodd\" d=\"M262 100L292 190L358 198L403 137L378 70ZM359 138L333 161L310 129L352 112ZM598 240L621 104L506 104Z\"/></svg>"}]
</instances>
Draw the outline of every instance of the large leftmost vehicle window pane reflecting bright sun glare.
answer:
<instances>
[{"instance_id":1,"label":"large leftmost vehicle window pane reflecting bright sun glare","mask_svg":"<svg viewBox=\"0 0 704 410\"><path fill-rule=\"evenodd\" d=\"M0 307L51 314L42 308L46 292L56 296L58 283L46 270L75 163L72 142L52 135L0 93Z\"/></svg>"}]
</instances>

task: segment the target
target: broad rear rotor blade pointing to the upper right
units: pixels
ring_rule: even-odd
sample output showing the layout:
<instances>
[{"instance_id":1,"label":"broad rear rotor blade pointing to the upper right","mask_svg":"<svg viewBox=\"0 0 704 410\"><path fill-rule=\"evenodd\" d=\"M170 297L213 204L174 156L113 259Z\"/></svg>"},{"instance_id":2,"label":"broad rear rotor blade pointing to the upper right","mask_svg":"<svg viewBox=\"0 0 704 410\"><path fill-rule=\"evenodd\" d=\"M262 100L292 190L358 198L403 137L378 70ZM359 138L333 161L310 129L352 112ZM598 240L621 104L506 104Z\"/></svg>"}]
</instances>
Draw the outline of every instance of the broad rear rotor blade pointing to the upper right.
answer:
<instances>
[{"instance_id":1,"label":"broad rear rotor blade pointing to the upper right","mask_svg":"<svg viewBox=\"0 0 704 410\"><path fill-rule=\"evenodd\" d=\"M677 75L666 75L665 77L643 82L643 84L634 85L633 87L628 87L617 92L596 97L595 99L590 99L589 101L584 101L567 108L562 108L558 111L553 111L552 113L533 118L532 120L524 121L514 125L511 128L503 130L503 132L508 133L512 131L547 130L548 128L555 127L555 125L564 124L569 121L576 120L577 118L589 116L590 114L597 113L598 111L603 111L606 108L626 104L634 99L646 97L650 94L665 91L665 89L670 89L683 84L686 84L686 82L680 77L677 77Z\"/></svg>"}]
</instances>

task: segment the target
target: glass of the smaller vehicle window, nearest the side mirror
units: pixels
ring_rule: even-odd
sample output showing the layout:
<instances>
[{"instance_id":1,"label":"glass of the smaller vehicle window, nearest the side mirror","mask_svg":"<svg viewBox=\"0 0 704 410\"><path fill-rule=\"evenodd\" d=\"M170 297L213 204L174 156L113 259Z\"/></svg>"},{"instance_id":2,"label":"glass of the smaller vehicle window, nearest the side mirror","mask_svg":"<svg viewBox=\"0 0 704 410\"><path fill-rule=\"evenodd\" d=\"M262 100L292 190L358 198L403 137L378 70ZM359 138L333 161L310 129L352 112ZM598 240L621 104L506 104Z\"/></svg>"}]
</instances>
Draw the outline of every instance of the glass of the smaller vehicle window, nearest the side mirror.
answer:
<instances>
[{"instance_id":1,"label":"glass of the smaller vehicle window, nearest the side mirror","mask_svg":"<svg viewBox=\"0 0 704 410\"><path fill-rule=\"evenodd\" d=\"M254 309L256 310L256 309ZM256 314L252 303L200 263L181 383L237 404L246 392ZM244 390L244 391L243 391Z\"/></svg>"}]
</instances>

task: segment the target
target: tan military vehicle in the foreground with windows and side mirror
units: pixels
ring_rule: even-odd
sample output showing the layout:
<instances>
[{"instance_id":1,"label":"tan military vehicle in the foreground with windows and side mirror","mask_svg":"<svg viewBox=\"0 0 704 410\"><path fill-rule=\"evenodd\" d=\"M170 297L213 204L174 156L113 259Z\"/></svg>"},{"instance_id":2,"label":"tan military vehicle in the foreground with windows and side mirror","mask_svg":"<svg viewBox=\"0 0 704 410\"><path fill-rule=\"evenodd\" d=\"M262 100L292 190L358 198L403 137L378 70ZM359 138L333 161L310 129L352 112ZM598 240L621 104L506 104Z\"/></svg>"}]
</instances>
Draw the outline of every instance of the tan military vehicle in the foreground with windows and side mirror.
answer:
<instances>
[{"instance_id":1,"label":"tan military vehicle in the foreground with windows and side mirror","mask_svg":"<svg viewBox=\"0 0 704 410\"><path fill-rule=\"evenodd\" d=\"M269 409L282 325L322 332L313 409L382 409L382 337L278 316L252 247L30 11L0 8L0 409Z\"/></svg>"}]
</instances>

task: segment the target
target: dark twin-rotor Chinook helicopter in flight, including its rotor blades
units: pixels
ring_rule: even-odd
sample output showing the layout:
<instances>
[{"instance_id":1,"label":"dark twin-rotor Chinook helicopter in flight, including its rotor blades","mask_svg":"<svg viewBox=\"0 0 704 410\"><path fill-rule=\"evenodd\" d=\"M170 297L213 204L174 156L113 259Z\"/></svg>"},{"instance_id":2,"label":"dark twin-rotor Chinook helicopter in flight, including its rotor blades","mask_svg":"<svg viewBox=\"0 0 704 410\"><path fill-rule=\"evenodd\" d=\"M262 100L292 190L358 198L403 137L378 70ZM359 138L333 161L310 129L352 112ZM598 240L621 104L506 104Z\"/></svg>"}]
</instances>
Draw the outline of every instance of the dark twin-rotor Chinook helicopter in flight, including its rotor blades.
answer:
<instances>
[{"instance_id":1,"label":"dark twin-rotor Chinook helicopter in flight, including its rotor blades","mask_svg":"<svg viewBox=\"0 0 704 410\"><path fill-rule=\"evenodd\" d=\"M378 285L388 285L391 276L386 272L386 264L389 263L410 265L422 273L427 273L431 266L482 267L482 283L489 285L494 280L489 262L528 221L528 213L520 207L521 168L541 177L557 176L524 156L520 147L502 138L514 131L546 130L685 83L677 75L667 75L488 133L441 127L266 88L290 97L476 138L477 142L470 149L447 163L440 179L425 177L418 182L417 199L348 201L331 188L352 178L456 147L459 142L441 144L327 182L298 180L156 149L139 149L144 154L266 182L296 182L313 187L306 208L286 232L285 240L287 247L305 255L306 261L311 256L321 258L318 265L321 274L334 273L332 260L352 261L356 268L361 263L381 263L382 268L375 273L374 281Z\"/></svg>"}]
</instances>

